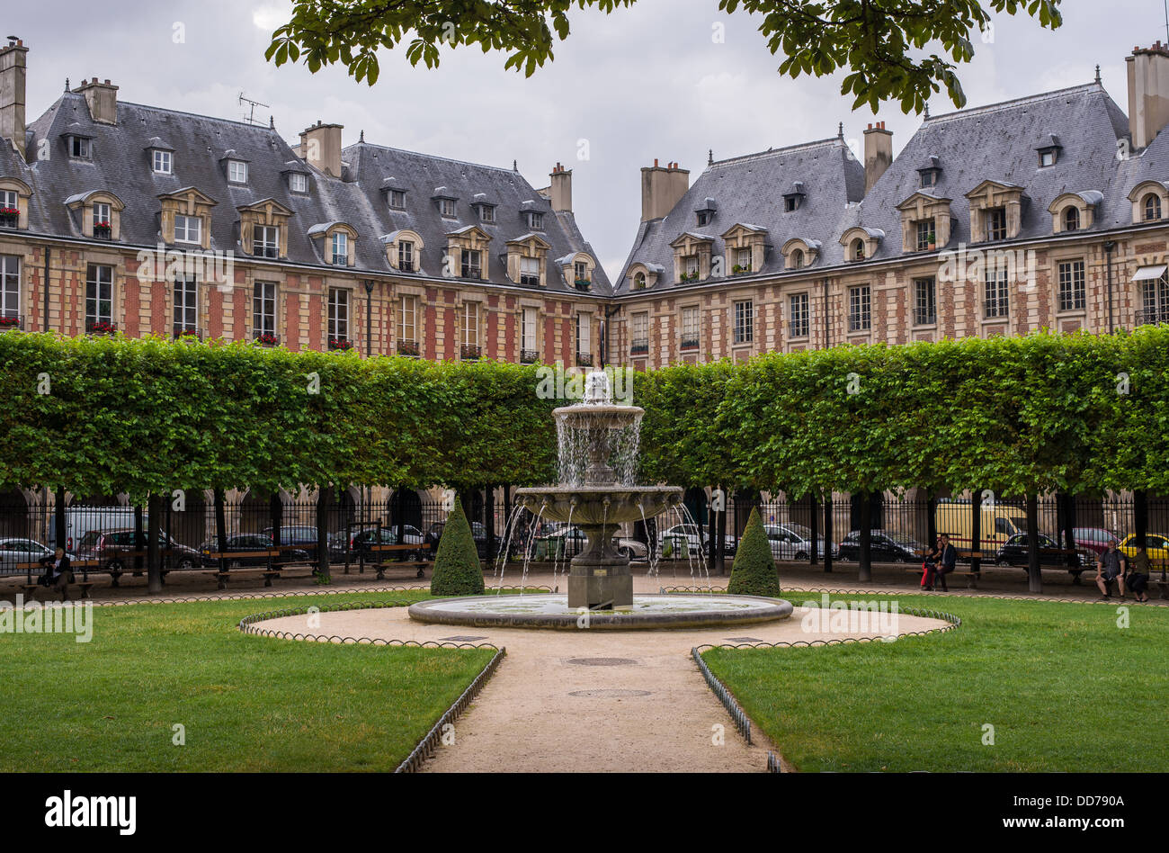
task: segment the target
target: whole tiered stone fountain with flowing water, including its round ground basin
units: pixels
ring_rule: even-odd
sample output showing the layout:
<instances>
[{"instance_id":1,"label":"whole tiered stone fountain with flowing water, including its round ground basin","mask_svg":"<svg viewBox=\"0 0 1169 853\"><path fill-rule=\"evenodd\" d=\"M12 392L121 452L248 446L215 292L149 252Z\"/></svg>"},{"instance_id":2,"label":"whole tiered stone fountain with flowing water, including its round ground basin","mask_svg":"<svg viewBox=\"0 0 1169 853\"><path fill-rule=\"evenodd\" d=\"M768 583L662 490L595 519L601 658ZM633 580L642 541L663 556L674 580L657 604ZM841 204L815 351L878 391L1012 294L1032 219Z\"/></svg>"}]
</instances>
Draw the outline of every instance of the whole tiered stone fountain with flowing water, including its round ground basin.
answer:
<instances>
[{"instance_id":1,"label":"whole tiered stone fountain with flowing water, including its round ground basin","mask_svg":"<svg viewBox=\"0 0 1169 853\"><path fill-rule=\"evenodd\" d=\"M629 559L613 548L621 524L648 521L679 504L676 486L634 482L644 410L615 405L609 377L589 373L581 403L553 412L560 477L555 486L516 491L534 517L579 527L584 550L573 557L568 594L475 596L420 601L411 619L478 627L662 628L784 619L791 605L776 598L727 594L634 597Z\"/></svg>"}]
</instances>

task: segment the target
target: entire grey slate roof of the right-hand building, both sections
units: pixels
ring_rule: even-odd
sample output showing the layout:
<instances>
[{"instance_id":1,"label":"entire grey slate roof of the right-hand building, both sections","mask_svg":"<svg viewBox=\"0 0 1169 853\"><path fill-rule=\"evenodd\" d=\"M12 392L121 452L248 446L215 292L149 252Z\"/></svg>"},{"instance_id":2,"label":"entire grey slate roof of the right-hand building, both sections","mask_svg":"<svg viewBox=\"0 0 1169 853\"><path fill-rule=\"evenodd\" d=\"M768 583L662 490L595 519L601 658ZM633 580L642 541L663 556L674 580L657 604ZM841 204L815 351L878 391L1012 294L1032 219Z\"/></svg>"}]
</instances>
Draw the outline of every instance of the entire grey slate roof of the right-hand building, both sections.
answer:
<instances>
[{"instance_id":1,"label":"entire grey slate roof of the right-hand building, both sections","mask_svg":"<svg viewBox=\"0 0 1169 853\"><path fill-rule=\"evenodd\" d=\"M867 194L863 165L844 156L839 139L714 163L667 216L641 225L617 293L628 293L625 271L634 262L673 269L670 242L694 226L693 209L707 195L718 200L710 231L721 234L734 223L756 222L769 232L772 248L763 269L727 278L728 284L782 270L779 249L797 236L821 241L812 269L844 264L845 248L839 240L851 227L881 235L870 260L899 257L901 214L897 206L919 192L952 200L947 248L969 243L966 193L988 179L1023 187L1028 202L1019 240L1051 235L1047 207L1063 193L1097 201L1091 232L1129 227L1132 204L1127 197L1133 187L1142 180L1169 179L1169 133L1162 132L1144 151L1122 159L1116 156L1118 140L1127 136L1123 110L1093 82L926 118ZM1060 145L1058 161L1040 168L1038 150L1051 145L1053 138ZM919 170L926 167L940 167L941 172L936 185L922 188ZM808 195L798 211L784 213L782 195L794 181L802 181ZM846 204L856 201L860 204ZM721 240L714 252L722 252ZM655 289L663 287L693 283L659 282Z\"/></svg>"}]
</instances>

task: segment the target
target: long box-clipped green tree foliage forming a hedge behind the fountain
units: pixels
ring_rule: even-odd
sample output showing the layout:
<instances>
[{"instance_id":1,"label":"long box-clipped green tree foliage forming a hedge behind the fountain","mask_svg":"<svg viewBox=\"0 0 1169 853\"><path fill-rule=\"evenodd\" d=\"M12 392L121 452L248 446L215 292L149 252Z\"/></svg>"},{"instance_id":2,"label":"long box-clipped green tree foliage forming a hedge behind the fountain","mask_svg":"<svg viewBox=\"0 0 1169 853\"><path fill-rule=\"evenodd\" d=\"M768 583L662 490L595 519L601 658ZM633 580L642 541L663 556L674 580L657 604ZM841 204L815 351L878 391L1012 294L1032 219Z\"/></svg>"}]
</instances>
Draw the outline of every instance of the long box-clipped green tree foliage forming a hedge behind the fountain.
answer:
<instances>
[{"instance_id":1,"label":"long box-clipped green tree foliage forming a hedge behind the fountain","mask_svg":"<svg viewBox=\"0 0 1169 853\"><path fill-rule=\"evenodd\" d=\"M0 488L549 482L563 401L539 381L532 365L4 332ZM770 353L639 373L634 392L645 482L1169 491L1164 328Z\"/></svg>"}]
</instances>

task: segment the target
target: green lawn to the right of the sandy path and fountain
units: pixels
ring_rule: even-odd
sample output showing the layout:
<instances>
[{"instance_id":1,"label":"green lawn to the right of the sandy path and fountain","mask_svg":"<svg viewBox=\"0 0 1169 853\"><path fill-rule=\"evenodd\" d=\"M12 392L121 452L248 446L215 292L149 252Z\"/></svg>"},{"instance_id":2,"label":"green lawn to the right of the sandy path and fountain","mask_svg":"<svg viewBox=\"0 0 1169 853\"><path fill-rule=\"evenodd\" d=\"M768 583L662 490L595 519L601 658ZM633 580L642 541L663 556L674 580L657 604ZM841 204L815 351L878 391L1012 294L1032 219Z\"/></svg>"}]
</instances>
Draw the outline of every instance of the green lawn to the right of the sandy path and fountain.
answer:
<instances>
[{"instance_id":1,"label":"green lawn to the right of the sandy path and fountain","mask_svg":"<svg viewBox=\"0 0 1169 853\"><path fill-rule=\"evenodd\" d=\"M817 594L787 593L793 604ZM837 596L853 600L863 596ZM869 597L881 600L890 597ZM1169 610L897 597L946 634L711 649L753 723L804 771L1169 771ZM983 745L983 725L994 745Z\"/></svg>"}]
</instances>

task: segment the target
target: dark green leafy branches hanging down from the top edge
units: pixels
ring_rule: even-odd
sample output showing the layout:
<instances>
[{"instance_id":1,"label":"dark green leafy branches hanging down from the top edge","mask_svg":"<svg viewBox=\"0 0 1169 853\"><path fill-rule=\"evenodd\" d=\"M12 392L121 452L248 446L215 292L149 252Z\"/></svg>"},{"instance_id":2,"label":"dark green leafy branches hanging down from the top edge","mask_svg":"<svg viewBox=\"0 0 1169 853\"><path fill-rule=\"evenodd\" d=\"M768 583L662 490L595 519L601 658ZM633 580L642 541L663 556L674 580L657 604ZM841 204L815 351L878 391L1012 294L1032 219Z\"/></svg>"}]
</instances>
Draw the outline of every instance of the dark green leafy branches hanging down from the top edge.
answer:
<instances>
[{"instance_id":1,"label":"dark green leafy branches hanging down from the top edge","mask_svg":"<svg viewBox=\"0 0 1169 853\"><path fill-rule=\"evenodd\" d=\"M289 21L272 33L265 59L302 61L316 73L343 64L358 81L378 82L378 51L406 46L410 64L435 68L443 46L507 54L505 68L532 76L569 35L573 7L604 14L635 0L292 0ZM1060 0L719 0L719 11L743 13L782 55L780 74L824 76L845 70L841 92L853 109L873 112L897 101L921 112L934 92L957 106L966 95L957 67L975 41L994 33L991 13L1025 13L1040 27L1063 22ZM713 4L713 0L712 0ZM934 50L934 53L931 53Z\"/></svg>"}]
</instances>

